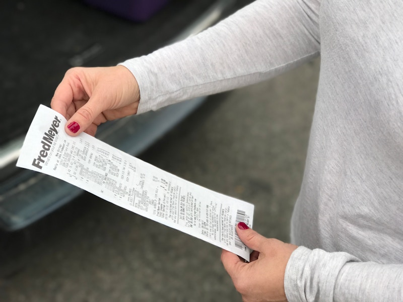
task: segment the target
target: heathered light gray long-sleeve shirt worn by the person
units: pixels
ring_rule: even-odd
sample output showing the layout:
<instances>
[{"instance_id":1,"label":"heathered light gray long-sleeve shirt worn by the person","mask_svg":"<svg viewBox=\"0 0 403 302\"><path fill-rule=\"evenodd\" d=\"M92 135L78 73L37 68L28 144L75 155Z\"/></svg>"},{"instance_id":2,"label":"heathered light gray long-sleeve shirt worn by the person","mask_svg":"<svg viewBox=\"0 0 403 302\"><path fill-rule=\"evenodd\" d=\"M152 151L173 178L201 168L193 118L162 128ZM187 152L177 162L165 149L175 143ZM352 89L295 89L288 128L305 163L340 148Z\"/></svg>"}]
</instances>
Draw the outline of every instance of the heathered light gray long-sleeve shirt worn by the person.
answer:
<instances>
[{"instance_id":1,"label":"heathered light gray long-sleeve shirt worn by the person","mask_svg":"<svg viewBox=\"0 0 403 302\"><path fill-rule=\"evenodd\" d=\"M403 301L402 16L401 0L261 0L123 63L139 83L141 113L320 54L289 301Z\"/></svg>"}]
</instances>

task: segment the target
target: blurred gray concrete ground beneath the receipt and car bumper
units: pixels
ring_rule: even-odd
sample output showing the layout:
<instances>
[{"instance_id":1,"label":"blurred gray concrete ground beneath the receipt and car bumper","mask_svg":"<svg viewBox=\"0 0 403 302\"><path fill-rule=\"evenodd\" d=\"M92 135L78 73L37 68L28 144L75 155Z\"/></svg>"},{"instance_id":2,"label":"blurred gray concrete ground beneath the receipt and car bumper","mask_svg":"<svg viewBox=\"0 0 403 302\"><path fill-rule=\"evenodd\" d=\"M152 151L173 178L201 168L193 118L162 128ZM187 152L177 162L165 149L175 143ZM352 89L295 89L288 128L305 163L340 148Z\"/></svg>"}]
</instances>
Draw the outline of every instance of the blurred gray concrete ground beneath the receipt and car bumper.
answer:
<instances>
[{"instance_id":1,"label":"blurred gray concrete ground beneath the receipt and car bumper","mask_svg":"<svg viewBox=\"0 0 403 302\"><path fill-rule=\"evenodd\" d=\"M254 229L289 239L314 109L319 60L211 97L142 159L255 204ZM7 301L240 301L221 250L85 194L91 208L0 280ZM27 261L28 259L28 261Z\"/></svg>"}]
</instances>

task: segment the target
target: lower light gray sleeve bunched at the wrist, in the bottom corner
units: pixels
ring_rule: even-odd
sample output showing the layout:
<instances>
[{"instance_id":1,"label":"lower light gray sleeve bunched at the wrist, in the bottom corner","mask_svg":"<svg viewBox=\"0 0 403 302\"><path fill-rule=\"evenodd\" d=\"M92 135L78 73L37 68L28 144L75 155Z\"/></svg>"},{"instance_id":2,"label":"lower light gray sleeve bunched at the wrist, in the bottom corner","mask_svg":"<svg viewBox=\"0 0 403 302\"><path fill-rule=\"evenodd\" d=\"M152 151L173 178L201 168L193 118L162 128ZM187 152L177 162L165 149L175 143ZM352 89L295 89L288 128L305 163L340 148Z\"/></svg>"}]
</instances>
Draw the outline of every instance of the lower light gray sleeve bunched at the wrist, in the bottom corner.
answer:
<instances>
[{"instance_id":1,"label":"lower light gray sleeve bunched at the wrist, in the bottom corner","mask_svg":"<svg viewBox=\"0 0 403 302\"><path fill-rule=\"evenodd\" d=\"M284 287L289 302L403 301L403 265L299 247L287 264Z\"/></svg>"}]
</instances>

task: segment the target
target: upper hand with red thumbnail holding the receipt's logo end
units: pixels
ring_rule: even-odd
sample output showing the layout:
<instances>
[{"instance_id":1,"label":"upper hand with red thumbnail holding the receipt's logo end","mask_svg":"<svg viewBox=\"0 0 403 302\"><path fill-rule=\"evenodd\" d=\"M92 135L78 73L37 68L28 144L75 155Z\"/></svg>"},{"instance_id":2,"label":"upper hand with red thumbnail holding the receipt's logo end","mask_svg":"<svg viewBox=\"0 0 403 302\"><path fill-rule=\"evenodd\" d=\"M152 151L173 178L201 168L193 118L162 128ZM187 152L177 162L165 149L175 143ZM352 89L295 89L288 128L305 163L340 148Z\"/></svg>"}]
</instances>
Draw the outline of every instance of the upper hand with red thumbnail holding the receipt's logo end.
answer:
<instances>
[{"instance_id":1,"label":"upper hand with red thumbnail holding the receipt's logo end","mask_svg":"<svg viewBox=\"0 0 403 302\"><path fill-rule=\"evenodd\" d=\"M139 85L124 66L69 69L56 88L51 107L68 122L65 131L95 135L97 127L137 113Z\"/></svg>"}]
</instances>

